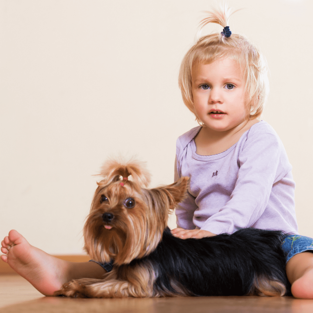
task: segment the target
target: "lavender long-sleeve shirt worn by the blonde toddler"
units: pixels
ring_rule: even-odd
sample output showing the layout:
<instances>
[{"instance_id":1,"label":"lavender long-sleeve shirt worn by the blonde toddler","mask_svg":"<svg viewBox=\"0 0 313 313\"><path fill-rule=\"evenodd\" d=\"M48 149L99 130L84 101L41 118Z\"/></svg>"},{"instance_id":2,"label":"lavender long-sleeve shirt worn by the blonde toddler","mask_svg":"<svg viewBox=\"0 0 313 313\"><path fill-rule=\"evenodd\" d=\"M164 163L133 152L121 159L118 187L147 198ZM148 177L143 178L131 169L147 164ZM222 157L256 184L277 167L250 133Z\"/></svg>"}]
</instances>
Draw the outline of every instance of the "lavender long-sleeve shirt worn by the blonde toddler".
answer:
<instances>
[{"instance_id":1,"label":"lavender long-sleeve shirt worn by the blonde toddler","mask_svg":"<svg viewBox=\"0 0 313 313\"><path fill-rule=\"evenodd\" d=\"M193 138L200 129L177 139L175 181L190 177L188 196L176 208L178 227L215 234L246 227L298 234L295 182L274 129L260 121L232 147L212 156L196 153Z\"/></svg>"}]
</instances>

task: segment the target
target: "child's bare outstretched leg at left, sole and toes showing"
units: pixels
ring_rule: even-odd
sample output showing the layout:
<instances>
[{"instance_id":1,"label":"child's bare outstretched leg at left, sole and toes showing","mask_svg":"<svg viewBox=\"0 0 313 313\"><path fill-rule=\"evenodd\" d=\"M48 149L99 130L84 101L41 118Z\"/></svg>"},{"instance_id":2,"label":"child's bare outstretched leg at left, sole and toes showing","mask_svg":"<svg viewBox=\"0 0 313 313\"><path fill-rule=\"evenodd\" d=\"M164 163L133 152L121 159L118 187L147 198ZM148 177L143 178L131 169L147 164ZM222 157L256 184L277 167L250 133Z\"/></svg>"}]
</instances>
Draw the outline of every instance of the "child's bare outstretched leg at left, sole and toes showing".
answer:
<instances>
[{"instance_id":1,"label":"child's bare outstretched leg at left, sole and toes showing","mask_svg":"<svg viewBox=\"0 0 313 313\"><path fill-rule=\"evenodd\" d=\"M3 239L1 251L6 254L1 256L2 260L43 295L53 295L72 279L100 279L106 273L95 262L76 263L55 258L30 245L16 230L11 230Z\"/></svg>"}]
</instances>

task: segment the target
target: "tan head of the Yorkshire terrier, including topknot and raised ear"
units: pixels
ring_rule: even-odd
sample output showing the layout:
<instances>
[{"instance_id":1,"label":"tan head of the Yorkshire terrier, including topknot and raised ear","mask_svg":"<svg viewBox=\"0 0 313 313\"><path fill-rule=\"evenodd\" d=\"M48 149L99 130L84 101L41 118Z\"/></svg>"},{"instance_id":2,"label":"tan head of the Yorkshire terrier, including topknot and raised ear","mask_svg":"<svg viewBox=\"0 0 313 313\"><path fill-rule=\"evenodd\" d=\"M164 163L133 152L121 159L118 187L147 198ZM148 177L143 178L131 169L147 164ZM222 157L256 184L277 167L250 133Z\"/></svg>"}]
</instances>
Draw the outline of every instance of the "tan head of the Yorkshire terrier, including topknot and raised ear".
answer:
<instances>
[{"instance_id":1,"label":"tan head of the Yorkshire terrier, including topknot and raised ear","mask_svg":"<svg viewBox=\"0 0 313 313\"><path fill-rule=\"evenodd\" d=\"M101 175L84 226L85 250L99 262L128 264L161 241L168 214L185 197L188 177L146 189L150 174L137 161L106 162Z\"/></svg>"}]
</instances>

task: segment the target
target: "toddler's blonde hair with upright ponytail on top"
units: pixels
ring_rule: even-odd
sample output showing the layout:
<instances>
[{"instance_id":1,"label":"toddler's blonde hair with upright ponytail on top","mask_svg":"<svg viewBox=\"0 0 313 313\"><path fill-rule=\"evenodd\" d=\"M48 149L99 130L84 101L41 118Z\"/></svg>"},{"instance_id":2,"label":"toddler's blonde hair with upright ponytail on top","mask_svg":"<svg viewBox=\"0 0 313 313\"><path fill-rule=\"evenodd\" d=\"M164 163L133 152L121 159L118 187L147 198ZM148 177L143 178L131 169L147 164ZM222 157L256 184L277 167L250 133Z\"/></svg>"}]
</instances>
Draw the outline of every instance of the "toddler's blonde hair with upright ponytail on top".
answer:
<instances>
[{"instance_id":1,"label":"toddler's blonde hair with upright ponytail on top","mask_svg":"<svg viewBox=\"0 0 313 313\"><path fill-rule=\"evenodd\" d=\"M236 11L235 11L236 12ZM208 17L200 22L200 29L208 23L216 23L223 27L228 25L231 9L226 5L219 10L213 9ZM196 116L192 97L192 68L199 64L210 64L218 59L230 58L243 69L246 80L245 92L247 104L250 107L249 118L255 119L262 114L264 103L269 92L267 78L267 64L259 49L249 40L238 34L225 37L222 33L214 33L201 37L194 44L182 60L178 84L182 92L182 99L187 108Z\"/></svg>"}]
</instances>

